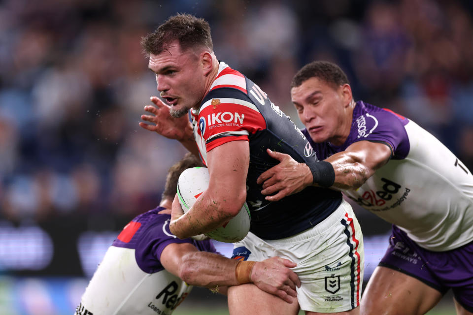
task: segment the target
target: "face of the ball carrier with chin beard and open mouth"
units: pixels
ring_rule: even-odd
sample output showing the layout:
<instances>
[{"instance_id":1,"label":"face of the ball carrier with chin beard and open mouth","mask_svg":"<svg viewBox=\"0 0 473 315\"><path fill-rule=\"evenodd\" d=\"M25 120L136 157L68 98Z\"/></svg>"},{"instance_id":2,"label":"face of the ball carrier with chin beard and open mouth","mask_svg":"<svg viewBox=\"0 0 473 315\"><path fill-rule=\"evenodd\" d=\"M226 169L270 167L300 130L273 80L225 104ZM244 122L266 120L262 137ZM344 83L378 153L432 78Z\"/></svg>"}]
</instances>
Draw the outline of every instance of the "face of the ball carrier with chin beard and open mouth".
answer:
<instances>
[{"instance_id":1,"label":"face of the ball carrier with chin beard and open mouth","mask_svg":"<svg viewBox=\"0 0 473 315\"><path fill-rule=\"evenodd\" d=\"M202 100L205 74L199 61L196 52L182 52L177 43L159 55L149 56L148 67L156 74L157 89L171 106L174 117L185 115Z\"/></svg>"}]
</instances>

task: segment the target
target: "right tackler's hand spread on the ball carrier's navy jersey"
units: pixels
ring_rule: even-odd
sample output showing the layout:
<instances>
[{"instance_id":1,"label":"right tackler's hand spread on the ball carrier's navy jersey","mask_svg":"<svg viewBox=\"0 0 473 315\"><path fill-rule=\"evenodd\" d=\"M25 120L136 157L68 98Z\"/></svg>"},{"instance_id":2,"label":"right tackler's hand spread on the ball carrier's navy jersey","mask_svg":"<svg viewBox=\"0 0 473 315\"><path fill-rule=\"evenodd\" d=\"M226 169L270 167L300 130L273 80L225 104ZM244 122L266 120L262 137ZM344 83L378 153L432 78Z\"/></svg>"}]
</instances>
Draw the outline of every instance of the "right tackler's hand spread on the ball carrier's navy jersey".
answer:
<instances>
[{"instance_id":1,"label":"right tackler's hand spread on the ball carrier's navy jersey","mask_svg":"<svg viewBox=\"0 0 473 315\"><path fill-rule=\"evenodd\" d=\"M263 184L261 193L266 196L268 201L277 201L285 196L299 192L307 186L312 185L313 176L309 167L304 163L298 163L290 155L266 150L271 158L279 161L279 164L271 167L261 174L256 183Z\"/></svg>"}]
</instances>

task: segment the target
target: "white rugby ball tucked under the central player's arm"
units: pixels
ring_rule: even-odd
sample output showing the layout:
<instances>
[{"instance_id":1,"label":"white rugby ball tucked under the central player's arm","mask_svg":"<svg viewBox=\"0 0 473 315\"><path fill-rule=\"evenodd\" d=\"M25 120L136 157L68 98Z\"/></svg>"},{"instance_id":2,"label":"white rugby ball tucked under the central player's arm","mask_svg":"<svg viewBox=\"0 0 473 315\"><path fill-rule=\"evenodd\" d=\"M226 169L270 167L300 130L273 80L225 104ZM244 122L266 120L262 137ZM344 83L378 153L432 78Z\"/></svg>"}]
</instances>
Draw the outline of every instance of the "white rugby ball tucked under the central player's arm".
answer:
<instances>
[{"instance_id":1,"label":"white rugby ball tucked under the central player's arm","mask_svg":"<svg viewBox=\"0 0 473 315\"><path fill-rule=\"evenodd\" d=\"M184 170L177 181L177 196L182 210L186 213L197 198L208 188L208 169L192 167ZM241 241L250 230L250 210L246 202L240 212L226 224L205 233L206 236L219 242L233 243Z\"/></svg>"}]
</instances>

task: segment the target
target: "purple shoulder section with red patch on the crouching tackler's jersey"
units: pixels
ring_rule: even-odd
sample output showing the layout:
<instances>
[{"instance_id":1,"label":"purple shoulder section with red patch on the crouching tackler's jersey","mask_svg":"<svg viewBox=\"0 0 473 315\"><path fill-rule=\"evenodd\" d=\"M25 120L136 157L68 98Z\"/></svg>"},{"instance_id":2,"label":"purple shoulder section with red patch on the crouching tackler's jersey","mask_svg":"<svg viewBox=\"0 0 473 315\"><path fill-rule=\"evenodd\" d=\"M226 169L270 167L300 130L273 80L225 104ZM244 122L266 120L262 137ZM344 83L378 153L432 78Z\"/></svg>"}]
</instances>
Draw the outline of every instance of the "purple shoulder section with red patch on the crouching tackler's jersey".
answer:
<instances>
[{"instance_id":1,"label":"purple shoulder section with red patch on the crouching tackler's jersey","mask_svg":"<svg viewBox=\"0 0 473 315\"><path fill-rule=\"evenodd\" d=\"M161 252L171 243L191 243L202 252L216 252L210 240L179 239L169 230L171 216L158 214L163 207L145 212L130 221L113 241L112 246L135 250L136 263L147 273L163 270Z\"/></svg>"}]
</instances>

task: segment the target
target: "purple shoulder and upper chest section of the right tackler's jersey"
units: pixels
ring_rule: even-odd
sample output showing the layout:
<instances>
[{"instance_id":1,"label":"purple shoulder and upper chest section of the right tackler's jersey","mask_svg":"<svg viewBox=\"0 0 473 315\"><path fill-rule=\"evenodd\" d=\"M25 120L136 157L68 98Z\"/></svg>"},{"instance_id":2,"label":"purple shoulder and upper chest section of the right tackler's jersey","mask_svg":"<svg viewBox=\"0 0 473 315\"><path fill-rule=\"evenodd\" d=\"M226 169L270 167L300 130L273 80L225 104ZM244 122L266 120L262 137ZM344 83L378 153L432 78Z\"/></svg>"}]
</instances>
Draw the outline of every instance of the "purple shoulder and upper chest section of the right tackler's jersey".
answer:
<instances>
[{"instance_id":1,"label":"purple shoulder and upper chest section of the right tackler's jersey","mask_svg":"<svg viewBox=\"0 0 473 315\"><path fill-rule=\"evenodd\" d=\"M317 157L321 160L345 151L352 143L362 140L385 143L391 149L391 158L404 159L409 153L409 138L404 128L408 122L407 118L389 109L357 101L353 109L350 134L341 146L335 146L329 142L315 143L310 138L307 129L302 132L309 139Z\"/></svg>"}]
</instances>

